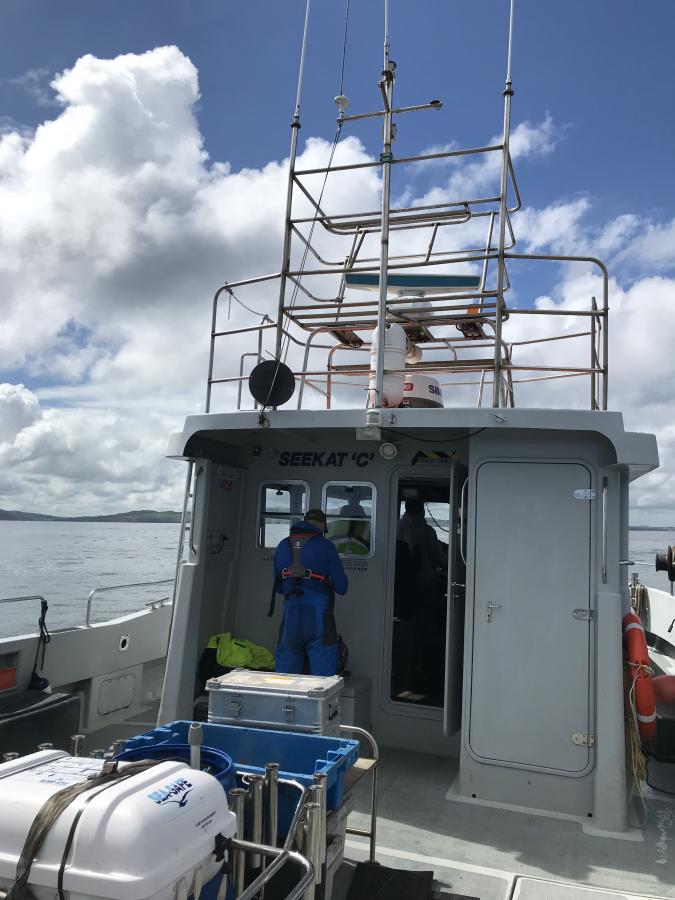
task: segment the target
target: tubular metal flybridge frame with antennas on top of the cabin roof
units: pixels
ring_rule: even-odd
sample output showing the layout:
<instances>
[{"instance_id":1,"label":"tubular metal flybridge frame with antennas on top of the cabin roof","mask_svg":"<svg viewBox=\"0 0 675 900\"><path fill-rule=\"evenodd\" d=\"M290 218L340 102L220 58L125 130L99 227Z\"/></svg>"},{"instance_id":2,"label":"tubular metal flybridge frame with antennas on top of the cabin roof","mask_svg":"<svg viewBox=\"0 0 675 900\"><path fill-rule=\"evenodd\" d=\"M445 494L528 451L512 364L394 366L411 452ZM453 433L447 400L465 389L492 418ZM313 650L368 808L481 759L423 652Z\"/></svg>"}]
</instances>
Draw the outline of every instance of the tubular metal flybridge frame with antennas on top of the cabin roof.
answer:
<instances>
[{"instance_id":1,"label":"tubular metal flybridge frame with antennas on top of the cabin roof","mask_svg":"<svg viewBox=\"0 0 675 900\"><path fill-rule=\"evenodd\" d=\"M316 407L317 402L325 408L337 404L375 410L399 403L513 407L523 393L527 405L550 406L555 405L550 395L533 404L532 383L559 379L582 379L588 385L590 408L606 409L608 273L604 264L591 256L515 251L512 217L522 203L509 150L511 40L500 143L397 157L394 140L399 120L410 121L409 113L438 112L442 103L395 106L398 73L390 57L388 25L385 29L380 108L347 114L350 104L341 81L330 158L326 166L312 169L296 166L301 63L281 268L270 275L226 283L216 292L206 411L215 405L216 392L224 400L218 406L232 405L228 387L236 388L237 409L287 402L298 409ZM303 60L306 41L307 28ZM370 118L382 120L379 157L334 165L345 130ZM405 180L406 167L429 161L479 164L494 158L500 176L493 193L432 204L391 205L391 179L400 173ZM324 200L328 179L331 195L340 197L345 194L340 188L354 173L369 169L381 176L380 209L344 212L328 207ZM479 225L482 239L476 237ZM532 298L521 292L518 306L510 304L512 270L540 263L548 263L549 268L553 264L554 277L562 263L583 267L584 272L595 269L600 275L599 296L589 295L574 309L533 308ZM272 298L277 300L274 320L260 314L255 324L220 326L232 302L256 315L266 301L269 308ZM384 340L378 339L380 334ZM225 361L237 357L238 371L224 369ZM253 402L247 382L251 369L261 362L267 372L263 388L258 387L257 393L252 390L258 397ZM403 391L388 390L387 385L397 379L405 385ZM277 390L281 380L287 390ZM566 393L564 406L569 405Z\"/></svg>"}]
</instances>

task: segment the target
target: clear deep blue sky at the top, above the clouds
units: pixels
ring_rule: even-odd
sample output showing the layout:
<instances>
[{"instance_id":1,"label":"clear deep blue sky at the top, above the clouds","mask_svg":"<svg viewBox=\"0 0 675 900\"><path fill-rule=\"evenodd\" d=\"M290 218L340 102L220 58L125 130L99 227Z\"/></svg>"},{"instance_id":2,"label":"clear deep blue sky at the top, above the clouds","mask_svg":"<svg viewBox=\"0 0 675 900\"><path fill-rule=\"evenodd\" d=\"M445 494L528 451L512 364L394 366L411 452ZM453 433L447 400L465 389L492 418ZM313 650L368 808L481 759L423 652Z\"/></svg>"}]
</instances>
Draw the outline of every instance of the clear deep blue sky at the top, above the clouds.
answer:
<instances>
[{"instance_id":1,"label":"clear deep blue sky at the top, above the clouds","mask_svg":"<svg viewBox=\"0 0 675 900\"><path fill-rule=\"evenodd\" d=\"M84 53L111 57L176 44L199 70L199 123L208 152L235 168L287 151L301 0L5 0L0 33L2 114L28 125L48 108L17 85ZM344 3L314 0L304 134L329 134L339 81ZM501 124L506 0L392 0L392 55L402 102L440 96L447 139L475 145ZM372 108L380 65L381 4L352 0L346 92ZM598 214L672 208L675 146L675 3L518 0L514 120L549 112L569 139L544 167L521 171L531 203L592 191ZM46 87L44 79L42 86ZM401 124L401 146L439 140L437 117Z\"/></svg>"}]
</instances>

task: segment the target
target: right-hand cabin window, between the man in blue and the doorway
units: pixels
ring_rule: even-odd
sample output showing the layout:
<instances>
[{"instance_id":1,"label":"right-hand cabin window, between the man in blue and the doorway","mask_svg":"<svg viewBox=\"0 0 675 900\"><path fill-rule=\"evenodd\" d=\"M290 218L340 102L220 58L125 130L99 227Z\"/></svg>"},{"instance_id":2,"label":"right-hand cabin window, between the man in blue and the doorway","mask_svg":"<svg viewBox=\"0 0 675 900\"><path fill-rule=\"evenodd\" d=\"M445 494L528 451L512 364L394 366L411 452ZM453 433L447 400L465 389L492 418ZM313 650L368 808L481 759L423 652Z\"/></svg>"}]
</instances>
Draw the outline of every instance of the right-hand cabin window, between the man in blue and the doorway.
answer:
<instances>
[{"instance_id":1,"label":"right-hand cabin window, between the man in blue and the doorway","mask_svg":"<svg viewBox=\"0 0 675 900\"><path fill-rule=\"evenodd\" d=\"M329 481L323 488L327 537L343 557L368 557L375 546L375 488L366 482Z\"/></svg>"}]
</instances>

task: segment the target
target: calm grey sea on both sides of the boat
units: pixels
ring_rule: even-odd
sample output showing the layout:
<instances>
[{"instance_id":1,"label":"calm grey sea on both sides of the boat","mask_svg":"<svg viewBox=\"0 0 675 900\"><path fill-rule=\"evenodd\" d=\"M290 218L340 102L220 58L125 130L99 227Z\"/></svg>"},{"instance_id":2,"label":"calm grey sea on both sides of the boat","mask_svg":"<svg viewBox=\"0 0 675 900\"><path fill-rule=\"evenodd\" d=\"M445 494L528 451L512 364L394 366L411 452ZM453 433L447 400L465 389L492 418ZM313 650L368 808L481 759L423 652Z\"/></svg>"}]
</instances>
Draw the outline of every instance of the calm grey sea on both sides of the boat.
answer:
<instances>
[{"instance_id":1,"label":"calm grey sea on both sides of the boat","mask_svg":"<svg viewBox=\"0 0 675 900\"><path fill-rule=\"evenodd\" d=\"M52 628L84 624L92 588L173 578L180 526L123 522L0 522L0 598L42 594ZM654 556L675 544L675 531L631 531L631 559L640 580L669 589ZM142 609L171 585L98 595L93 621ZM0 605L0 636L36 629L39 602Z\"/></svg>"}]
</instances>

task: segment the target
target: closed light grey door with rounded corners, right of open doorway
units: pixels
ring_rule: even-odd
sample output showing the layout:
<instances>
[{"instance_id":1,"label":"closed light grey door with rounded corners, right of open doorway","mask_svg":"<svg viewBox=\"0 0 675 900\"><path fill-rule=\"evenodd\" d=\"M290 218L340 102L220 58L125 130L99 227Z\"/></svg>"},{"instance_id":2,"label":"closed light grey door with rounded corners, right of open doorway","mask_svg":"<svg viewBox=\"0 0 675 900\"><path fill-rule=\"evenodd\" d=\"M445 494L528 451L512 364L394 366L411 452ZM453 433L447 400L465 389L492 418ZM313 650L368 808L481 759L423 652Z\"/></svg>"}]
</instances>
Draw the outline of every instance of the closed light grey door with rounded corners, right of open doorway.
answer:
<instances>
[{"instance_id":1,"label":"closed light grey door with rounded corners, right of open doorway","mask_svg":"<svg viewBox=\"0 0 675 900\"><path fill-rule=\"evenodd\" d=\"M486 462L476 475L469 746L574 773L589 750L591 487L578 463ZM581 618L580 618L581 616Z\"/></svg>"}]
</instances>

